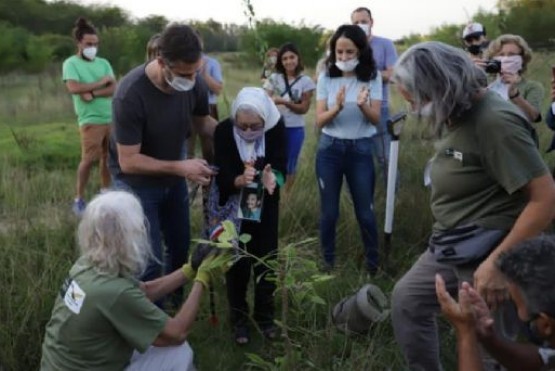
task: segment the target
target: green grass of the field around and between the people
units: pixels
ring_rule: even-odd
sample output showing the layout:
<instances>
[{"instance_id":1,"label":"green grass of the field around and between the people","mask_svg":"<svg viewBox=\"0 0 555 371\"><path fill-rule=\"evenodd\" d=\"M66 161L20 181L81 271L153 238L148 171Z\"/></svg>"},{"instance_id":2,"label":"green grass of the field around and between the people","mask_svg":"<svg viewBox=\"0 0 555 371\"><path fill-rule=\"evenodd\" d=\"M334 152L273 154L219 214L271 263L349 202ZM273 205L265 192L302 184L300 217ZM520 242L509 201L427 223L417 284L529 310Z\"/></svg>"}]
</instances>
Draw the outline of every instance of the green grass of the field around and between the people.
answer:
<instances>
[{"instance_id":1,"label":"green grass of the field around and between the people","mask_svg":"<svg viewBox=\"0 0 555 371\"><path fill-rule=\"evenodd\" d=\"M220 114L229 112L228 103L246 85L259 86L259 70L237 68L236 59L222 58L225 93ZM231 61L231 62L230 62ZM549 66L555 56L535 57L529 68L531 79L549 82ZM231 64L233 63L233 64ZM59 67L59 66L58 66ZM79 160L79 137L69 96L64 92L57 68L36 76L10 75L0 78L0 370L36 369L44 326L58 289L77 256L74 242L76 220L70 213L75 169ZM546 90L547 91L547 90ZM404 103L392 89L393 111ZM313 105L314 106L314 105ZM544 107L547 107L547 99ZM282 205L280 246L318 236L319 200L314 175L317 134L313 130L314 108L306 115L307 139L299 163L293 192ZM550 132L538 124L541 148L547 148ZM422 138L421 127L410 121L400 142L400 188L396 200L393 251L390 262L395 272L375 279L389 293L401 274L423 251L430 232L428 190L422 185L424 164L432 146ZM553 167L553 159L546 156ZM88 195L98 189L92 177ZM385 192L377 178L376 205L379 225L384 220ZM362 246L348 194L341 197L337 225L336 277L315 285L325 305L293 302L288 328L297 356L289 369L399 370L402 356L393 338L391 324L377 325L367 336L346 337L331 324L330 311L341 298L367 282L362 267ZM194 207L193 235L200 230L201 216ZM316 242L297 249L298 259L319 261ZM299 272L299 274L302 272ZM291 293L292 295L294 293ZM267 343L256 335L246 347L233 344L227 323L225 291L217 288L217 313L221 323L208 322L208 300L190 336L201 370L271 369L286 352L284 342ZM281 308L281 297L276 299ZM454 369L453 336L442 324L446 369ZM255 362L249 354L264 362ZM256 357L254 357L256 358ZM255 364L258 364L256 366Z\"/></svg>"}]
</instances>

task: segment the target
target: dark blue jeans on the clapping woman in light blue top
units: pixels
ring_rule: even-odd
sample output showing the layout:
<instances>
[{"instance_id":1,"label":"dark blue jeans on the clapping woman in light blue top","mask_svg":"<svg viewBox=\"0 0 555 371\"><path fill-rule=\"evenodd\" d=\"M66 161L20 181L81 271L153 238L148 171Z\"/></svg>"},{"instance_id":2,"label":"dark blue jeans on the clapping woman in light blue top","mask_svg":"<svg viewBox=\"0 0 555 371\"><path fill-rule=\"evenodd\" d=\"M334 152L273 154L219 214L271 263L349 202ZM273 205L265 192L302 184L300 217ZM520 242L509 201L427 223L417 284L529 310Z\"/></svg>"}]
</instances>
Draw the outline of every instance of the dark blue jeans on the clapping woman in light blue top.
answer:
<instances>
[{"instance_id":1,"label":"dark blue jeans on the clapping woman in light blue top","mask_svg":"<svg viewBox=\"0 0 555 371\"><path fill-rule=\"evenodd\" d=\"M372 139L337 139L322 133L316 155L320 190L320 244L326 264L335 262L335 226L343 177L353 199L360 227L366 267L378 266L378 228L374 215L374 162Z\"/></svg>"}]
</instances>

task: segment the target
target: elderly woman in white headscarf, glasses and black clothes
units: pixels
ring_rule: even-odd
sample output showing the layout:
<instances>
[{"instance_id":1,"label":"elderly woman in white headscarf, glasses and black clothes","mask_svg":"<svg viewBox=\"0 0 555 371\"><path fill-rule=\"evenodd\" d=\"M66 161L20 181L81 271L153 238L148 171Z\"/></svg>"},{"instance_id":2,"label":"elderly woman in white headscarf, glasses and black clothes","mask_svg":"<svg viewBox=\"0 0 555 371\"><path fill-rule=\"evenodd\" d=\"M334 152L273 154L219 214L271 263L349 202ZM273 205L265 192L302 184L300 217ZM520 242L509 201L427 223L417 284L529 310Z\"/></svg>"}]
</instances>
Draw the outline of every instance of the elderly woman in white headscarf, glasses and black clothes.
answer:
<instances>
[{"instance_id":1,"label":"elderly woman in white headscarf, glasses and black clothes","mask_svg":"<svg viewBox=\"0 0 555 371\"><path fill-rule=\"evenodd\" d=\"M244 188L263 195L260 220L240 220L240 232L251 236L245 248L258 258L275 258L278 243L279 188L286 167L285 125L278 109L261 88L243 88L233 102L231 117L214 133L216 184L223 205ZM253 187L254 186L254 187ZM273 292L267 267L243 257L227 273L231 324L238 344L249 342L246 300L251 267L254 271L253 318L267 338L276 336Z\"/></svg>"}]
</instances>

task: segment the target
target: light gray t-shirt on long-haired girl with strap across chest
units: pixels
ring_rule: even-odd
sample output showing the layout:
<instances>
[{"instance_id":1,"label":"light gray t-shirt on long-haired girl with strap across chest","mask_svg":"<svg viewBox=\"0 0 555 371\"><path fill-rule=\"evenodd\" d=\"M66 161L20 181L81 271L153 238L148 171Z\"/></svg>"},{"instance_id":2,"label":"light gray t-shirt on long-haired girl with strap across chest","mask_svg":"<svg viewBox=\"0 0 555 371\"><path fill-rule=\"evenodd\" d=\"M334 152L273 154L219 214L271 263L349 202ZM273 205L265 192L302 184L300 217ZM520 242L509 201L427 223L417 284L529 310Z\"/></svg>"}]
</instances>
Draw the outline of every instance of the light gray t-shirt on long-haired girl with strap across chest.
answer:
<instances>
[{"instance_id":1,"label":"light gray t-shirt on long-haired girl with strap across chest","mask_svg":"<svg viewBox=\"0 0 555 371\"><path fill-rule=\"evenodd\" d=\"M291 94L286 92L287 88L285 86L285 79L281 73L272 73L264 83L264 89L271 91L274 95L281 96L282 98L293 102L300 101L304 93L314 91L316 89L314 81L306 75L300 75L293 80L289 80L289 86ZM297 128L304 126L303 115L299 115L281 104L277 107L283 115L286 127Z\"/></svg>"}]
</instances>

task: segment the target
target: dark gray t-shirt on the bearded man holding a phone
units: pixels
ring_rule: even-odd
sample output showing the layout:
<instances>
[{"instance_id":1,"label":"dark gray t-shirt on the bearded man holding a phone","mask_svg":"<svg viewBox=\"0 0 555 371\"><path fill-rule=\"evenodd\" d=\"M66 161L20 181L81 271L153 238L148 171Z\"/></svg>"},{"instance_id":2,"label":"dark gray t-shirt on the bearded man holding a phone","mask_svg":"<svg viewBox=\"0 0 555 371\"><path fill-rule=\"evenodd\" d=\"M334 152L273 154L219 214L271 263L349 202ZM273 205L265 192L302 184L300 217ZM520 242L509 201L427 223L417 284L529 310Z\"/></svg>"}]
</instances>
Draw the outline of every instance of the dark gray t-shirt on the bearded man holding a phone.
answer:
<instances>
[{"instance_id":1,"label":"dark gray t-shirt on the bearded man holding a phone","mask_svg":"<svg viewBox=\"0 0 555 371\"><path fill-rule=\"evenodd\" d=\"M208 87L197 75L192 90L164 93L147 77L143 64L120 81L112 109L114 126L108 162L112 176L130 186L167 186L179 178L123 173L116 143L140 144L142 154L158 160L182 159L192 117L208 115Z\"/></svg>"}]
</instances>

